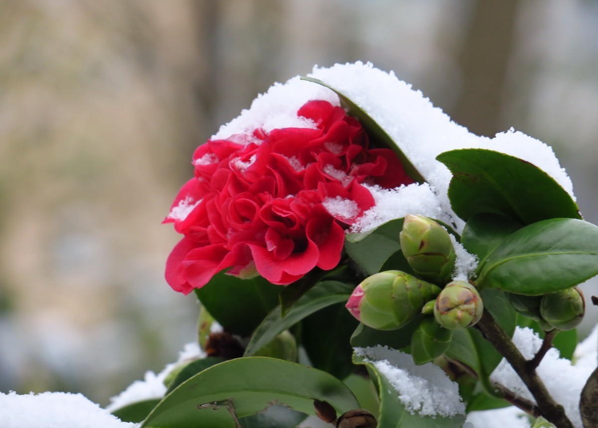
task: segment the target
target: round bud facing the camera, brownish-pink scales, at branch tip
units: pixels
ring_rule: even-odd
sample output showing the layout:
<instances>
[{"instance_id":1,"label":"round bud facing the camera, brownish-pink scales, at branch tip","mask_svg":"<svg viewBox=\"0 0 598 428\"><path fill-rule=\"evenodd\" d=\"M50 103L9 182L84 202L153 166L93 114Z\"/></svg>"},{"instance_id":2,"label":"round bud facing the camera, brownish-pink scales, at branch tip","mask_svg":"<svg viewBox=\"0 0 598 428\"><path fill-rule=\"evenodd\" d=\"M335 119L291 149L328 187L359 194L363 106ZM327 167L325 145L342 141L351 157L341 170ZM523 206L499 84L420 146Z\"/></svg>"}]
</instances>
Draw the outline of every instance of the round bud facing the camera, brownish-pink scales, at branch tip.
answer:
<instances>
[{"instance_id":1,"label":"round bud facing the camera, brownish-pink scales, at branch tip","mask_svg":"<svg viewBox=\"0 0 598 428\"><path fill-rule=\"evenodd\" d=\"M434 317L444 328L455 330L477 323L484 304L474 286L465 281L453 281L440 292L434 305Z\"/></svg>"}]
</instances>

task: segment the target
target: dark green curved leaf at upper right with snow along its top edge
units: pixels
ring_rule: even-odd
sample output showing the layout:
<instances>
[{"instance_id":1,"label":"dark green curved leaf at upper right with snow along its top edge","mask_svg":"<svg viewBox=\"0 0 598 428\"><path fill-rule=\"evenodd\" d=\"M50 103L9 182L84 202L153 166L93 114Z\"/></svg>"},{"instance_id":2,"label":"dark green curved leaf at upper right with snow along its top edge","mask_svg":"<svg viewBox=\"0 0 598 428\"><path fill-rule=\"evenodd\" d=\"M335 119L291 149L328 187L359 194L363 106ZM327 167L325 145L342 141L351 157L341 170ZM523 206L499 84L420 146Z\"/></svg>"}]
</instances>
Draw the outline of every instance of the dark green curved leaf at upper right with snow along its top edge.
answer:
<instances>
[{"instance_id":1,"label":"dark green curved leaf at upper right with snow along its top edge","mask_svg":"<svg viewBox=\"0 0 598 428\"><path fill-rule=\"evenodd\" d=\"M449 199L463 220L478 213L523 224L549 218L581 219L571 195L551 176L520 158L486 149L459 149L436 159L453 173Z\"/></svg>"}]
</instances>

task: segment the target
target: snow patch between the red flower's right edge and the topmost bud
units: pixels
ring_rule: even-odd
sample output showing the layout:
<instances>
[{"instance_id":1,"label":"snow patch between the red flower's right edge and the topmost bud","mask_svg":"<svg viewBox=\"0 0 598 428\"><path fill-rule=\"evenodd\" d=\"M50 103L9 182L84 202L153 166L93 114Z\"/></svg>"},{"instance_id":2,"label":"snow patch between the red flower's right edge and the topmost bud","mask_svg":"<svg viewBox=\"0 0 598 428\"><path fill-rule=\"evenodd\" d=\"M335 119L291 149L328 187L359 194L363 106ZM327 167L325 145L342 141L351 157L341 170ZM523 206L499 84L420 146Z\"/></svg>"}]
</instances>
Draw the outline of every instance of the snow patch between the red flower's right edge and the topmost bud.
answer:
<instances>
[{"instance_id":1,"label":"snow patch between the red flower's right edge and the topmost bud","mask_svg":"<svg viewBox=\"0 0 598 428\"><path fill-rule=\"evenodd\" d=\"M428 184L410 184L396 189L366 187L373 195L376 205L359 218L351 228L351 232L368 232L407 214L420 214L444 222L450 221Z\"/></svg>"}]
</instances>

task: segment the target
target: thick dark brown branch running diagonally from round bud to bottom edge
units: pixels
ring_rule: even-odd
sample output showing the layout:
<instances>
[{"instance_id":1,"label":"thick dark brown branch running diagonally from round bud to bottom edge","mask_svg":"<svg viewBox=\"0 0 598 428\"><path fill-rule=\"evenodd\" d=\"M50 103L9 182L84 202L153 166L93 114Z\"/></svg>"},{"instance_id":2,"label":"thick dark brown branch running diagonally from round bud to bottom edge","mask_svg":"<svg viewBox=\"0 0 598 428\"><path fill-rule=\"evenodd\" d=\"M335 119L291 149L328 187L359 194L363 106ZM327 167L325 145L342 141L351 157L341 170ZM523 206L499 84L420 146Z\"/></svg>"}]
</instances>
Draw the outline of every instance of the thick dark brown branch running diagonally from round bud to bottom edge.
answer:
<instances>
[{"instance_id":1,"label":"thick dark brown branch running diagonally from round bud to bottom edge","mask_svg":"<svg viewBox=\"0 0 598 428\"><path fill-rule=\"evenodd\" d=\"M573 428L573 424L565 414L563 406L556 403L548 393L546 386L536 373L535 369L529 369L528 361L521 355L517 347L512 343L511 338L498 325L495 319L487 310L484 310L476 327L480 329L487 341L496 348L507 362L526 384L529 392L536 400L538 409L542 416L551 421L559 428Z\"/></svg>"}]
</instances>

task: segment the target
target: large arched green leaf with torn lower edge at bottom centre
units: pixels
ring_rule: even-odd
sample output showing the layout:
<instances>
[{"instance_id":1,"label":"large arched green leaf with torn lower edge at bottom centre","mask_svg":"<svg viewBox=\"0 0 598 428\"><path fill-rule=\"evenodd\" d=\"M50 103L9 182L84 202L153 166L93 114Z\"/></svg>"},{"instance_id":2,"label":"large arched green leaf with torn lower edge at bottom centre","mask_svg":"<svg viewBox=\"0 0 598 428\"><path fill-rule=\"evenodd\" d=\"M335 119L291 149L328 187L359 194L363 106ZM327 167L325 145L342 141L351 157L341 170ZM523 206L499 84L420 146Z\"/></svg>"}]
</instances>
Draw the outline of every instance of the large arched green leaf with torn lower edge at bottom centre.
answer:
<instances>
[{"instance_id":1,"label":"large arched green leaf with torn lower edge at bottom centre","mask_svg":"<svg viewBox=\"0 0 598 428\"><path fill-rule=\"evenodd\" d=\"M326 372L267 357L237 358L181 384L142 428L234 427L235 417L256 414L272 403L313 415L315 399L328 402L337 414L358 408L349 388Z\"/></svg>"}]
</instances>

